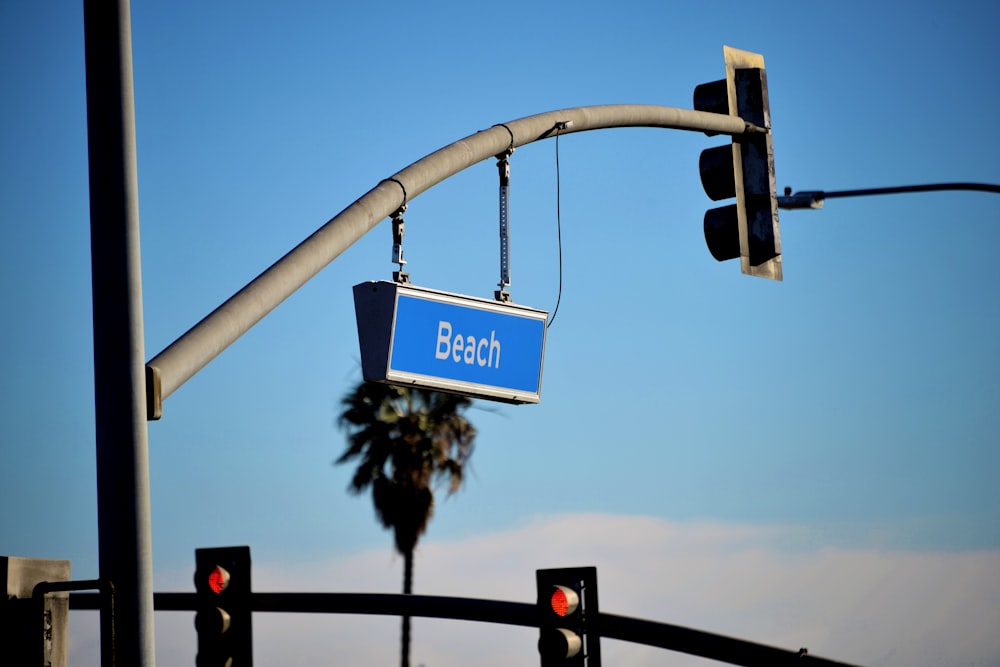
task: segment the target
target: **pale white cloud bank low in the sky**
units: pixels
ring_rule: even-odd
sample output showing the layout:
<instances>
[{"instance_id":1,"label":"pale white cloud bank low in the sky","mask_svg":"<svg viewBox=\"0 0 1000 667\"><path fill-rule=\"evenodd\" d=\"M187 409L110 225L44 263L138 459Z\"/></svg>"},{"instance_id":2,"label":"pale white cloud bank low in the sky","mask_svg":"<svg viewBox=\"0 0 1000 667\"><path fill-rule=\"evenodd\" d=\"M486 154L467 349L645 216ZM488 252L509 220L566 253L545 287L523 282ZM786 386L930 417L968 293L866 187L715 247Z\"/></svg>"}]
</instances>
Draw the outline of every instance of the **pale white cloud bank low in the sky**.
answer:
<instances>
[{"instance_id":1,"label":"pale white cloud bank low in the sky","mask_svg":"<svg viewBox=\"0 0 1000 667\"><path fill-rule=\"evenodd\" d=\"M425 540L414 590L530 602L535 569L596 565L604 612L873 667L1000 665L1000 551L789 548L796 532L602 514L538 518L464 540ZM255 563L255 590L398 592L402 560L386 542L330 561ZM190 577L159 573L156 588L190 590ZM157 664L192 664L191 614L160 613L156 623ZM97 664L86 657L96 650L94 632L95 614L73 615L74 665ZM254 634L263 667L398 661L397 618L256 614ZM536 638L530 628L416 618L412 662L537 664ZM612 640L602 649L606 664L718 664Z\"/></svg>"}]
</instances>

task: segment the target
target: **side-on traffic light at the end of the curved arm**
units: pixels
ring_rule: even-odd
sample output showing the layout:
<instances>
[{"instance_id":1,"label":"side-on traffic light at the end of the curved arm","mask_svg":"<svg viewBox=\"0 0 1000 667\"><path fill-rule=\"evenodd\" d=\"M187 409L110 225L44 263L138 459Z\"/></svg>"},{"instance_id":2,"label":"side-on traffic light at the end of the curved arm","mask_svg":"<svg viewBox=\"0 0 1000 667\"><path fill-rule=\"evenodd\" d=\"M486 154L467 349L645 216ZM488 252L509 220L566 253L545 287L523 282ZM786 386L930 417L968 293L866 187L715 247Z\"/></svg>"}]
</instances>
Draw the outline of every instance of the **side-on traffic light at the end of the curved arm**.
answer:
<instances>
[{"instance_id":1,"label":"side-on traffic light at the end of the curved arm","mask_svg":"<svg viewBox=\"0 0 1000 667\"><path fill-rule=\"evenodd\" d=\"M781 280L781 237L764 56L723 47L726 78L694 89L697 111L739 116L752 131L702 151L701 183L712 201L736 203L705 213L705 242L720 262L740 258L743 273Z\"/></svg>"}]
</instances>

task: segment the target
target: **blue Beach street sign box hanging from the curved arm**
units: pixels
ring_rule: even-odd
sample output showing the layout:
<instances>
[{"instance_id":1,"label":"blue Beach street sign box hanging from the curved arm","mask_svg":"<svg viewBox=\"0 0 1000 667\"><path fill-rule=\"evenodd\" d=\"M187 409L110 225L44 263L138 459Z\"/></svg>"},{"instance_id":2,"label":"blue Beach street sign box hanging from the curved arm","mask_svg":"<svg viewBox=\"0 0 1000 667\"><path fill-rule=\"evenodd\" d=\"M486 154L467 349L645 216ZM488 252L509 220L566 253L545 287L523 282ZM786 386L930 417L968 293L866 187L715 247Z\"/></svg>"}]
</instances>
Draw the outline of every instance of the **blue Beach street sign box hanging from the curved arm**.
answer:
<instances>
[{"instance_id":1,"label":"blue Beach street sign box hanging from the curved arm","mask_svg":"<svg viewBox=\"0 0 1000 667\"><path fill-rule=\"evenodd\" d=\"M354 286L366 380L537 403L547 313L395 282Z\"/></svg>"}]
</instances>

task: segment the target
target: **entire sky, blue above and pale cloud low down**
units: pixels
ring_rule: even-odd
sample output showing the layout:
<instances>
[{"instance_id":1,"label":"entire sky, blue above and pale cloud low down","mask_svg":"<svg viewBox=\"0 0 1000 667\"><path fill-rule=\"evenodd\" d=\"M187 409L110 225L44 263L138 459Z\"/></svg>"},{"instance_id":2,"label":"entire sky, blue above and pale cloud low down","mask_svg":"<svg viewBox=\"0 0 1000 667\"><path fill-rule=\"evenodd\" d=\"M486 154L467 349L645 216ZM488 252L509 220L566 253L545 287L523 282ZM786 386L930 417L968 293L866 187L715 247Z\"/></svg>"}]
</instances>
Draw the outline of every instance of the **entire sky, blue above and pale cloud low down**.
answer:
<instances>
[{"instance_id":1,"label":"entire sky, blue above and pale cloud low down","mask_svg":"<svg viewBox=\"0 0 1000 667\"><path fill-rule=\"evenodd\" d=\"M543 111L690 108L723 75L723 44L765 57L779 189L1000 183L996 3L342 4L133 3L147 358L415 160ZM0 89L0 554L69 558L92 578L81 3L0 0ZM564 286L542 400L477 403L472 474L439 498L415 590L527 601L535 568L596 564L614 613L865 664L1000 662L970 629L1000 624L1000 198L782 212L773 283L705 248L698 154L719 143L560 140ZM554 149L511 160L511 292L545 310ZM487 160L410 202L415 283L492 294L496 192ZM390 251L383 223L167 399L149 427L157 590L188 590L193 550L223 544L251 545L259 590L398 589L391 536L332 466L338 401L360 378L351 286L388 279ZM698 551L688 538L704 534L717 539ZM732 594L702 608L710 581ZM911 623L941 590L954 613ZM74 615L79 651L88 616ZM395 620L364 622L392 656ZM282 623L259 656L282 655ZM190 634L184 615L157 624ZM467 660L440 653L436 627L415 624L414 660ZM497 660L534 659L530 632L475 632ZM344 641L364 651L362 637ZM189 664L188 642L161 641L159 662ZM642 655L630 664L674 659Z\"/></svg>"}]
</instances>

